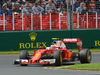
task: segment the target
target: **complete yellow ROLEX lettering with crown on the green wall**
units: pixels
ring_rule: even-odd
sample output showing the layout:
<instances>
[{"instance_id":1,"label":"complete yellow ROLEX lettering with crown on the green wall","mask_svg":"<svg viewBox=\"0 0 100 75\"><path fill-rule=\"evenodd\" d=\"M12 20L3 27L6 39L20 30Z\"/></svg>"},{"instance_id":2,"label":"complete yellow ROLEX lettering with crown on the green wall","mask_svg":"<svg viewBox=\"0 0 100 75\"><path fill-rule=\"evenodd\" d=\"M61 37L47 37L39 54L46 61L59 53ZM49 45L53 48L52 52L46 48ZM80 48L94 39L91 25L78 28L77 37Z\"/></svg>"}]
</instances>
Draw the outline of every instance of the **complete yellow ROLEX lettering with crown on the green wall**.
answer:
<instances>
[{"instance_id":1,"label":"complete yellow ROLEX lettering with crown on the green wall","mask_svg":"<svg viewBox=\"0 0 100 75\"><path fill-rule=\"evenodd\" d=\"M40 46L46 48L47 42L35 42L37 34L35 32L31 32L29 34L31 42L27 43L19 43L19 49L34 49L39 48ZM37 39L38 40L38 39Z\"/></svg>"}]
</instances>

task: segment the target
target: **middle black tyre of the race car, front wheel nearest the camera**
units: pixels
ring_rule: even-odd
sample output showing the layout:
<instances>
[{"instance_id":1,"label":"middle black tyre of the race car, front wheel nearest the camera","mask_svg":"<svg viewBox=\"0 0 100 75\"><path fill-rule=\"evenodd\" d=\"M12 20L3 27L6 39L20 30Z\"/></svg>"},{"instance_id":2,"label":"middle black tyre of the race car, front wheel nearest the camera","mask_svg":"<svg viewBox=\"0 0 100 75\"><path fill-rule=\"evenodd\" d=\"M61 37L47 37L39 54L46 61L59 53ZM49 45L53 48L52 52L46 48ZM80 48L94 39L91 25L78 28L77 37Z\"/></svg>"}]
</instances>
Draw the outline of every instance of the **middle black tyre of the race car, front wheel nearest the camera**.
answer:
<instances>
[{"instance_id":1,"label":"middle black tyre of the race car, front wheel nearest the camera","mask_svg":"<svg viewBox=\"0 0 100 75\"><path fill-rule=\"evenodd\" d=\"M56 61L55 61L56 66L62 65L62 53L60 51L54 51L53 58L56 59Z\"/></svg>"}]
</instances>

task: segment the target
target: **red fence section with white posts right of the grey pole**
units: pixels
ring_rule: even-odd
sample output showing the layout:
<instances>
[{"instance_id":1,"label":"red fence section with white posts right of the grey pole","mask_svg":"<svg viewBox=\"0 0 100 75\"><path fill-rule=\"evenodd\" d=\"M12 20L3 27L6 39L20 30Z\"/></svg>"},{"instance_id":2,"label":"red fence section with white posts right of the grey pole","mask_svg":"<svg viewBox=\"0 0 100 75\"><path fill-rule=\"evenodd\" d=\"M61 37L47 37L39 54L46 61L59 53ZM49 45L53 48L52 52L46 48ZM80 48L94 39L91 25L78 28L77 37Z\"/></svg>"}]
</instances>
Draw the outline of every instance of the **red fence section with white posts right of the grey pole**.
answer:
<instances>
[{"instance_id":1,"label":"red fence section with white posts right of the grey pole","mask_svg":"<svg viewBox=\"0 0 100 75\"><path fill-rule=\"evenodd\" d=\"M100 15L94 14L89 15L86 13L85 15L77 14L77 17L74 16L74 29L100 29Z\"/></svg>"}]
</instances>

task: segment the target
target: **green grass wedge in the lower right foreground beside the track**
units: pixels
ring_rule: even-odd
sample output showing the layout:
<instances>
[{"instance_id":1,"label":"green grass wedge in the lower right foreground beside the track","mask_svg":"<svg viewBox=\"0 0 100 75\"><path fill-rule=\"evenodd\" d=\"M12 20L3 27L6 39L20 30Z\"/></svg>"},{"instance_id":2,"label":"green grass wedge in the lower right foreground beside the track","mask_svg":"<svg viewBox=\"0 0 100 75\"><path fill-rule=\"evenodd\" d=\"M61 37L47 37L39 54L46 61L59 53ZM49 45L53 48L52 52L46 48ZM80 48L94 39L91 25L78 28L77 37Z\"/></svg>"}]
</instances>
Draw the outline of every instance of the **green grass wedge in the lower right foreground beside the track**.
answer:
<instances>
[{"instance_id":1,"label":"green grass wedge in the lower right foreground beside the track","mask_svg":"<svg viewBox=\"0 0 100 75\"><path fill-rule=\"evenodd\" d=\"M57 69L100 71L100 63L75 64L75 65L72 65L72 66L57 67Z\"/></svg>"}]
</instances>

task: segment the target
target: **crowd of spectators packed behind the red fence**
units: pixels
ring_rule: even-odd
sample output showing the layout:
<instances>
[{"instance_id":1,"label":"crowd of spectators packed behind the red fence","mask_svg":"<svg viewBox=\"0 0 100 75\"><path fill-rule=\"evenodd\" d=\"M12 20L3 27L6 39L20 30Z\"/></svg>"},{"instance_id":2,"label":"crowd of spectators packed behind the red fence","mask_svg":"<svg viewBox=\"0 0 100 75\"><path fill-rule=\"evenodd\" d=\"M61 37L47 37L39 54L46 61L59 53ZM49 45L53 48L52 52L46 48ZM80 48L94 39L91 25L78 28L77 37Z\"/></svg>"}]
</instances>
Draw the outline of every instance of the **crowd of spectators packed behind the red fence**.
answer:
<instances>
[{"instance_id":1,"label":"crowd of spectators packed behind the red fence","mask_svg":"<svg viewBox=\"0 0 100 75\"><path fill-rule=\"evenodd\" d=\"M39 15L42 13L46 15L67 14L67 0L0 0L0 15L6 13L6 15L21 14L25 15ZM100 14L100 0L73 0L71 1L74 14Z\"/></svg>"}]
</instances>

